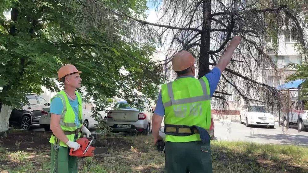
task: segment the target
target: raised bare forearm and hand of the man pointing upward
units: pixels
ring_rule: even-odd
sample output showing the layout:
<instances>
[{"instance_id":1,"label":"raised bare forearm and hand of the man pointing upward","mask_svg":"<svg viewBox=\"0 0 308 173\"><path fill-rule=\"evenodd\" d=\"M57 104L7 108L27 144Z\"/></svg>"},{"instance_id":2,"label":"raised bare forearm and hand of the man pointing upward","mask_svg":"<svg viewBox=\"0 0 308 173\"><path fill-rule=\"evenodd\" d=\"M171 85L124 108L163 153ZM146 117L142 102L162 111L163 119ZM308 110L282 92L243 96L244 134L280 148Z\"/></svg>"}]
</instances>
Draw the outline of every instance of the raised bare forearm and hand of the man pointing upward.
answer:
<instances>
[{"instance_id":1,"label":"raised bare forearm and hand of the man pointing upward","mask_svg":"<svg viewBox=\"0 0 308 173\"><path fill-rule=\"evenodd\" d=\"M216 67L218 67L221 72L223 72L225 70L226 66L229 64L229 62L232 58L232 55L234 53L234 50L241 43L241 40L242 40L242 38L240 36L233 37L229 46L227 47L227 50L220 57Z\"/></svg>"}]
</instances>

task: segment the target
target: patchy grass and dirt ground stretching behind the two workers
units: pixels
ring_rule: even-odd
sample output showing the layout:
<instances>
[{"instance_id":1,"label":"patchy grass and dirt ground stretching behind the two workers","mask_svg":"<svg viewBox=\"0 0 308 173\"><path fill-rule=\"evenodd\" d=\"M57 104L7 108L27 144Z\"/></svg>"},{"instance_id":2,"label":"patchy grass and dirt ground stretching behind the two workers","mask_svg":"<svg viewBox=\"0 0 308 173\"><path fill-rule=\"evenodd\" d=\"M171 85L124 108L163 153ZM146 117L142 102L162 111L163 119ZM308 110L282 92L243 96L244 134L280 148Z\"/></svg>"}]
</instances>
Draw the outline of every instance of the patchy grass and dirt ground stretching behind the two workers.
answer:
<instances>
[{"instance_id":1,"label":"patchy grass and dirt ground stretching behind the two workers","mask_svg":"<svg viewBox=\"0 0 308 173\"><path fill-rule=\"evenodd\" d=\"M49 172L48 136L0 137L0 172ZM164 172L164 153L152 141L152 136L98 136L95 146L103 154L79 159L79 172ZM213 141L212 159L217 173L308 172L308 148L302 146Z\"/></svg>"}]
</instances>

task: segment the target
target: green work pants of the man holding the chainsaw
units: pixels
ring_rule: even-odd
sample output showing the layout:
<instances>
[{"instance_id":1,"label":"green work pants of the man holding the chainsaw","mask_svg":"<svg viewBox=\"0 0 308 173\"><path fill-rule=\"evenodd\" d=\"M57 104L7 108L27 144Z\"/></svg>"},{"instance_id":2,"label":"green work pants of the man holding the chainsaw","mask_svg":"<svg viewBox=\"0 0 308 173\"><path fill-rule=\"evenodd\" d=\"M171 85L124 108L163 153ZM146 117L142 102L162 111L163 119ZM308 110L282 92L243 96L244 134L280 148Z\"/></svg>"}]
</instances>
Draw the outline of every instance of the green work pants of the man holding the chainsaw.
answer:
<instances>
[{"instance_id":1,"label":"green work pants of the man holding the chainsaw","mask_svg":"<svg viewBox=\"0 0 308 173\"><path fill-rule=\"evenodd\" d=\"M50 151L51 151L51 167L50 167L51 173L78 173L78 157L70 156L69 148L59 146L59 149L55 150L54 144L51 144ZM54 168L56 170L54 170Z\"/></svg>"}]
</instances>

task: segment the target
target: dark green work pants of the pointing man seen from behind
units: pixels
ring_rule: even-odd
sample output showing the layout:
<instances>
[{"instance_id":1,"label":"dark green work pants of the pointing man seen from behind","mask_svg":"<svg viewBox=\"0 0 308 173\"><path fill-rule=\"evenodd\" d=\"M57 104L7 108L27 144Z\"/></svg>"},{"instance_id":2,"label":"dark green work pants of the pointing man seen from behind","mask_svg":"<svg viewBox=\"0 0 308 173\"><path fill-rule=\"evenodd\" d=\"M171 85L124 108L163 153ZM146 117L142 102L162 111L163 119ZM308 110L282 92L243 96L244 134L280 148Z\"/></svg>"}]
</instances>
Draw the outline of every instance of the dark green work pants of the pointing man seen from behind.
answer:
<instances>
[{"instance_id":1,"label":"dark green work pants of the pointing man seen from behind","mask_svg":"<svg viewBox=\"0 0 308 173\"><path fill-rule=\"evenodd\" d=\"M210 141L166 142L166 173L212 173Z\"/></svg>"}]
</instances>

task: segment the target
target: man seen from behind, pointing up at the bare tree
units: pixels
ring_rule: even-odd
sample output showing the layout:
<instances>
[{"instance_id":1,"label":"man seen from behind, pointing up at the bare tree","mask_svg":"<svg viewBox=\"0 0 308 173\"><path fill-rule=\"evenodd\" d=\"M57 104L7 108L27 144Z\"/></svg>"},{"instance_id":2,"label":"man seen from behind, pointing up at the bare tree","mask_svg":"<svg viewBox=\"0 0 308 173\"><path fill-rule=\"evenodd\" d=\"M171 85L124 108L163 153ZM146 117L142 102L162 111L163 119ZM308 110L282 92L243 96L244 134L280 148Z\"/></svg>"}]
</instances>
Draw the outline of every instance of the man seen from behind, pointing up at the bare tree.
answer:
<instances>
[{"instance_id":1,"label":"man seen from behind, pointing up at the bare tree","mask_svg":"<svg viewBox=\"0 0 308 173\"><path fill-rule=\"evenodd\" d=\"M208 131L211 97L240 43L241 37L235 36L217 65L200 79L194 78L196 60L191 53L181 51L173 57L172 69L178 78L161 86L152 117L154 144L159 149L165 146L166 172L213 172ZM164 133L160 133L163 118Z\"/></svg>"}]
</instances>

